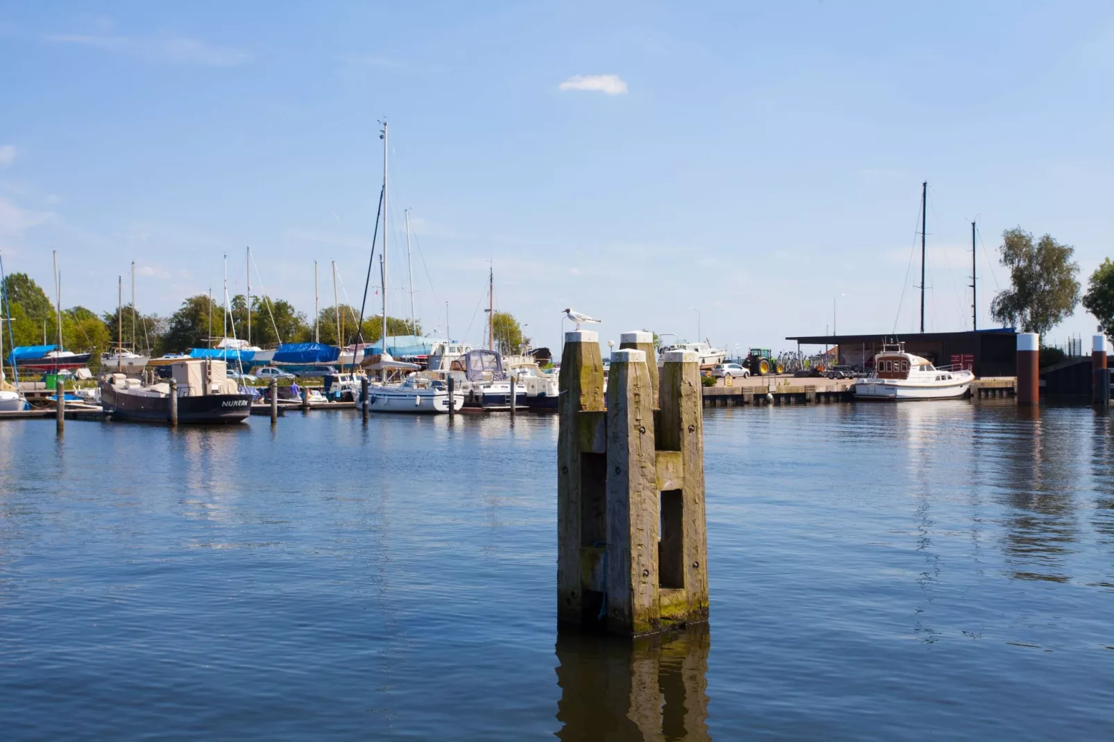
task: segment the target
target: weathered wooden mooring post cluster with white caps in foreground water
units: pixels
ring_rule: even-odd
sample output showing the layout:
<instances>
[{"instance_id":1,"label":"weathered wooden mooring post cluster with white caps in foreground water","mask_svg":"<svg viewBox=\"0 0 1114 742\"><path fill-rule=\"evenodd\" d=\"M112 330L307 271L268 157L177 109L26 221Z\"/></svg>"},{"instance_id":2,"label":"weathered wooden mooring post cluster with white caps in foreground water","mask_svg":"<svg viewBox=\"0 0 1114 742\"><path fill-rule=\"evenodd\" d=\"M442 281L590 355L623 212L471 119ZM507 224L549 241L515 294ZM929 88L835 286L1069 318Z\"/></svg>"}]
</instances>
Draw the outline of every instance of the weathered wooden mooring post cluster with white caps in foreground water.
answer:
<instances>
[{"instance_id":1,"label":"weathered wooden mooring post cluster with white caps in foreground water","mask_svg":"<svg viewBox=\"0 0 1114 742\"><path fill-rule=\"evenodd\" d=\"M654 357L615 351L605 408L596 333L565 335L557 455L561 624L637 636L707 619L700 369L691 351L666 353L664 361L655 394Z\"/></svg>"}]
</instances>

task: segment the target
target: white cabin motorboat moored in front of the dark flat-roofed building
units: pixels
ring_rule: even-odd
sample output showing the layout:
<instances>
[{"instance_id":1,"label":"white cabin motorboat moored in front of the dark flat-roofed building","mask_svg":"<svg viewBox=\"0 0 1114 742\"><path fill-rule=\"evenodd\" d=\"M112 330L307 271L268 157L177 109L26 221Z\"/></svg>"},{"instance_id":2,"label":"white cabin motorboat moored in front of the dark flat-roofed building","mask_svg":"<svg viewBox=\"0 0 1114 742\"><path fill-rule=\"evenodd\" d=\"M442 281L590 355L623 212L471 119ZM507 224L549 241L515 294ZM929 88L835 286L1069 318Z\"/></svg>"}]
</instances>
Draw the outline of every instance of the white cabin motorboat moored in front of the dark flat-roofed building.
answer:
<instances>
[{"instance_id":1,"label":"white cabin motorboat moored in front of the dark flat-roofed building","mask_svg":"<svg viewBox=\"0 0 1114 742\"><path fill-rule=\"evenodd\" d=\"M874 370L854 384L856 399L955 399L967 393L974 372L959 367L936 367L907 353L905 343L883 344L874 355Z\"/></svg>"}]
</instances>

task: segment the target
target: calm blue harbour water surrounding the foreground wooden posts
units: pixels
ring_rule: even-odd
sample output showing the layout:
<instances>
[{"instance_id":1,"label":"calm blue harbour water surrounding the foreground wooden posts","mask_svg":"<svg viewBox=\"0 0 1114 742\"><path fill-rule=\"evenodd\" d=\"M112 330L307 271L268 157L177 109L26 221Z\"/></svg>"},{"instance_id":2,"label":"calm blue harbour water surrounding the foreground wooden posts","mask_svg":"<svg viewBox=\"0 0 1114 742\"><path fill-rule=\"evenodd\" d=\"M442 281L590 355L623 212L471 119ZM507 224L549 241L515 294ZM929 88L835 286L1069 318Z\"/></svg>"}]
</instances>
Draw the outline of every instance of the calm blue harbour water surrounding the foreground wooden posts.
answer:
<instances>
[{"instance_id":1,"label":"calm blue harbour water surrounding the foreground wooden posts","mask_svg":"<svg viewBox=\"0 0 1114 742\"><path fill-rule=\"evenodd\" d=\"M1108 740L1114 430L709 410L711 623L555 628L556 418L0 426L0 736Z\"/></svg>"}]
</instances>

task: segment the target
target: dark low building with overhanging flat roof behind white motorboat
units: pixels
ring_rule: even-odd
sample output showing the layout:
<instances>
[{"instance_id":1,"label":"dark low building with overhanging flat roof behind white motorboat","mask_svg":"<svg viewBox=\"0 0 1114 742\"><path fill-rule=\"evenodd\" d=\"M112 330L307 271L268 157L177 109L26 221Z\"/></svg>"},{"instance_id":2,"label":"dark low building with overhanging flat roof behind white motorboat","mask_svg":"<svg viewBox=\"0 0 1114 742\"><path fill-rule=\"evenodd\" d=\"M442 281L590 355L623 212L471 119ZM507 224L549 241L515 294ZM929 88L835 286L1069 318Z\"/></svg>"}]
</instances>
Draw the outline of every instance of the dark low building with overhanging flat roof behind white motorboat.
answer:
<instances>
[{"instance_id":1,"label":"dark low building with overhanging flat roof behind white motorboat","mask_svg":"<svg viewBox=\"0 0 1114 742\"><path fill-rule=\"evenodd\" d=\"M906 351L936 365L971 363L976 377L1017 374L1017 333L1013 328L975 332L925 332L873 335L811 335L786 338L798 345L838 345L839 363L873 368L883 343L905 343ZM969 358L964 358L969 357Z\"/></svg>"}]
</instances>

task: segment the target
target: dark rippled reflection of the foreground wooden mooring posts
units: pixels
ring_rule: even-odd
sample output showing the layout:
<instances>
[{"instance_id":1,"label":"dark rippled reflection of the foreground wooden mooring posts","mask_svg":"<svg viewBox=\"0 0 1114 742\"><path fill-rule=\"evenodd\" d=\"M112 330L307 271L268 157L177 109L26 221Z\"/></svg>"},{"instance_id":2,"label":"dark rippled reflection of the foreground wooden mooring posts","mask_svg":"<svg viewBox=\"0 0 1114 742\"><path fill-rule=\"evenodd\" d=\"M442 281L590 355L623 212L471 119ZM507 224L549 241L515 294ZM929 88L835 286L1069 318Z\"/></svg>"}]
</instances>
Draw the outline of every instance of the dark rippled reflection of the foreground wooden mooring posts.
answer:
<instances>
[{"instance_id":1,"label":"dark rippled reflection of the foreground wooden mooring posts","mask_svg":"<svg viewBox=\"0 0 1114 742\"><path fill-rule=\"evenodd\" d=\"M557 739L711 740L707 732L707 624L616 642L557 636Z\"/></svg>"}]
</instances>

